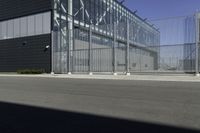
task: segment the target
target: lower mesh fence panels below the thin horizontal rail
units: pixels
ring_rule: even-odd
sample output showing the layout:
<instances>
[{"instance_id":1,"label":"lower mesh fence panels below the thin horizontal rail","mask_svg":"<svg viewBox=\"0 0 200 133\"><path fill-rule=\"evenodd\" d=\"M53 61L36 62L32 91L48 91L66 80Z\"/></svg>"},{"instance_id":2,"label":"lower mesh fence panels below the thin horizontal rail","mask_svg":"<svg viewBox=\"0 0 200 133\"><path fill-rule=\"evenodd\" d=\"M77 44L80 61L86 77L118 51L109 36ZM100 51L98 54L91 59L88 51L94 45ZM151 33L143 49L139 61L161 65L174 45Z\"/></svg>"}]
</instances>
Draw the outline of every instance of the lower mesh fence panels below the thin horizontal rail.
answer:
<instances>
[{"instance_id":1,"label":"lower mesh fence panels below the thin horizontal rail","mask_svg":"<svg viewBox=\"0 0 200 133\"><path fill-rule=\"evenodd\" d=\"M150 49L154 51L150 51ZM148 51L149 50L149 51ZM116 72L195 72L195 44L164 45L157 47L129 49L129 63L126 62L126 48L116 48ZM94 48L89 58L88 49L71 51L73 53L72 72L113 72L114 60L112 48ZM60 60L66 60L67 53ZM67 61L67 60L66 60ZM61 61L64 62L64 61ZM91 63L90 63L91 62ZM59 63L58 63L59 64ZM57 69L67 72L66 62ZM61 67L61 68L60 68ZM90 68L91 67L91 68ZM90 69L89 69L90 68Z\"/></svg>"}]
</instances>

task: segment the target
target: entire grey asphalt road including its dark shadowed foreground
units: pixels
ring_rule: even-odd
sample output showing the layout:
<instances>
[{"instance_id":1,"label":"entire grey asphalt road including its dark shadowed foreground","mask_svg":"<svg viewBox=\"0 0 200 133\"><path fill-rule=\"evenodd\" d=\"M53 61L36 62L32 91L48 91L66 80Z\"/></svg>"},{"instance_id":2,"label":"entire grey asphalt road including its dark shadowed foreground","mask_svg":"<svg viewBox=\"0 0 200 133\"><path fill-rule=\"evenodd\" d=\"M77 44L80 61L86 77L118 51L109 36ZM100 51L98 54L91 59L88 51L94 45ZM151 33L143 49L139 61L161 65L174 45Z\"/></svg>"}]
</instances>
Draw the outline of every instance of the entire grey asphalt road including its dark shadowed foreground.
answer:
<instances>
[{"instance_id":1,"label":"entire grey asphalt road including its dark shadowed foreground","mask_svg":"<svg viewBox=\"0 0 200 133\"><path fill-rule=\"evenodd\" d=\"M90 132L92 127L95 132L200 131L200 83L0 77L0 131Z\"/></svg>"}]
</instances>

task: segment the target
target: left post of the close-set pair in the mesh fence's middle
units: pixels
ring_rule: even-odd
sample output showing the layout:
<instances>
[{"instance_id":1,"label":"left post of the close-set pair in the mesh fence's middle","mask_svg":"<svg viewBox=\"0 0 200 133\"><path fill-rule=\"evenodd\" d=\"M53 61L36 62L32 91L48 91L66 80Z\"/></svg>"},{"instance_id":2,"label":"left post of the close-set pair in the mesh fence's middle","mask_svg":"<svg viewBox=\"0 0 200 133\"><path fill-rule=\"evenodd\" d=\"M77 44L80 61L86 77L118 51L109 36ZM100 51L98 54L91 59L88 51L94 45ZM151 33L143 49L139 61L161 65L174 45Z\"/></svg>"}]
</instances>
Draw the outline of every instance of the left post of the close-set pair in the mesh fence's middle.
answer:
<instances>
[{"instance_id":1,"label":"left post of the close-set pair in the mesh fence's middle","mask_svg":"<svg viewBox=\"0 0 200 133\"><path fill-rule=\"evenodd\" d=\"M116 73L116 35L117 35L117 30L116 30L116 22L114 22L113 25L113 75L117 75Z\"/></svg>"}]
</instances>

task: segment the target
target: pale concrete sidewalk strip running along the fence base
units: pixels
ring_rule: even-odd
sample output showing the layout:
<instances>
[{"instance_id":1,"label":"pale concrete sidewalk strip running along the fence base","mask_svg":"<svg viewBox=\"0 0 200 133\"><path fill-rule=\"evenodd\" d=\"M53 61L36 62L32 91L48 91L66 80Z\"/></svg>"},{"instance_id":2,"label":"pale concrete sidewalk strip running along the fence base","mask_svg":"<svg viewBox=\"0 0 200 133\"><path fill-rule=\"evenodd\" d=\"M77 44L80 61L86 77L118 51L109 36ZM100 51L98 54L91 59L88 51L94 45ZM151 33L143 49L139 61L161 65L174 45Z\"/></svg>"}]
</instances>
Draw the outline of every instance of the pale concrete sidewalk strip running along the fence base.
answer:
<instances>
[{"instance_id":1,"label":"pale concrete sidewalk strip running along the fence base","mask_svg":"<svg viewBox=\"0 0 200 133\"><path fill-rule=\"evenodd\" d=\"M87 74L40 74L40 75L19 75L0 74L0 77L35 77L35 78L68 78L68 79L102 79L102 80L142 80L142 81L176 81L176 82L200 82L200 77L188 74L163 74L163 75L87 75Z\"/></svg>"}]
</instances>

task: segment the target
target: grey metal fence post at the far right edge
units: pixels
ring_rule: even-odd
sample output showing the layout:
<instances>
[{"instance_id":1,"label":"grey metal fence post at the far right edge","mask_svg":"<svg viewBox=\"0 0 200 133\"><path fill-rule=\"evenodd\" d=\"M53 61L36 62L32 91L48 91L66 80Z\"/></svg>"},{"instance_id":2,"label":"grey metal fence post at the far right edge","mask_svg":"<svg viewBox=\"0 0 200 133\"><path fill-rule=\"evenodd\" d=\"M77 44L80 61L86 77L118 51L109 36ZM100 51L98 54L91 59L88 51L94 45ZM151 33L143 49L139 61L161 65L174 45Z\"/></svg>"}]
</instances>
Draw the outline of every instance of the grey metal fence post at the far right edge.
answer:
<instances>
[{"instance_id":1,"label":"grey metal fence post at the far right edge","mask_svg":"<svg viewBox=\"0 0 200 133\"><path fill-rule=\"evenodd\" d=\"M195 73L196 76L200 76L199 75L199 12L196 13L195 15L196 17L196 67L195 67Z\"/></svg>"}]
</instances>

